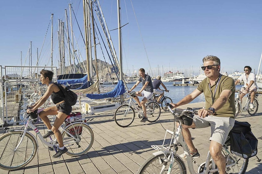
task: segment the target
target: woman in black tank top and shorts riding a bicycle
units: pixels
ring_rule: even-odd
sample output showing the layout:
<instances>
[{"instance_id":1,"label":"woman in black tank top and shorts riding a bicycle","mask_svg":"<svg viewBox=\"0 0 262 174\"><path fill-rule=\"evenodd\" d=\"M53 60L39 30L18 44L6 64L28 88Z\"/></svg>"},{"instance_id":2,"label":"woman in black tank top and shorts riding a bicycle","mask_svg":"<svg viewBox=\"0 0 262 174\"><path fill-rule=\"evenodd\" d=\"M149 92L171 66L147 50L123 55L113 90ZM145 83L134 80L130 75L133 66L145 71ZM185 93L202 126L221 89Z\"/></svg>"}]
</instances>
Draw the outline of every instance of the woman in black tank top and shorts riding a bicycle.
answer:
<instances>
[{"instance_id":1,"label":"woman in black tank top and shorts riding a bicycle","mask_svg":"<svg viewBox=\"0 0 262 174\"><path fill-rule=\"evenodd\" d=\"M34 105L30 106L32 109L28 109L28 113L33 112L37 110L37 108L41 107L53 92L57 93L61 97L64 97L60 88L55 83L52 83L54 75L52 71L43 69L40 71L40 74L40 81L42 84L46 84L48 88L45 94ZM67 115L71 113L72 107L68 105L63 99L55 97L54 95L51 95L51 99L53 103L56 104L56 106L45 108L39 113L39 117L43 120L48 129L47 133L43 137L48 138L49 136L54 135L57 138L59 150L53 156L53 158L58 158L63 153L67 152L67 148L65 148L63 144L62 134L58 129L66 119ZM51 126L47 115L57 115L58 119L55 119L53 126Z\"/></svg>"}]
</instances>

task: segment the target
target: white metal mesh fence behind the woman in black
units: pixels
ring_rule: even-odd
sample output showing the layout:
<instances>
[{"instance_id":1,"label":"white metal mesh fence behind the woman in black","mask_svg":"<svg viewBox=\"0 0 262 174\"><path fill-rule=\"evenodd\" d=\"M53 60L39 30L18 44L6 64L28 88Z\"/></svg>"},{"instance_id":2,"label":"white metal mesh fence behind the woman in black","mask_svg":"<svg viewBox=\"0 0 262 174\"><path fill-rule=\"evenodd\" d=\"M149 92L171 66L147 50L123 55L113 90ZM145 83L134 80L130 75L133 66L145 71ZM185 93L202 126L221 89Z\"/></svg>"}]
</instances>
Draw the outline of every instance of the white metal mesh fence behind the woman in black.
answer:
<instances>
[{"instance_id":1,"label":"white metal mesh fence behind the woman in black","mask_svg":"<svg viewBox=\"0 0 262 174\"><path fill-rule=\"evenodd\" d=\"M56 67L0 66L0 126L19 124L24 119L26 108L45 93L47 86L39 81L42 69L53 71L56 80ZM48 99L42 107L54 105L51 103Z\"/></svg>"}]
</instances>

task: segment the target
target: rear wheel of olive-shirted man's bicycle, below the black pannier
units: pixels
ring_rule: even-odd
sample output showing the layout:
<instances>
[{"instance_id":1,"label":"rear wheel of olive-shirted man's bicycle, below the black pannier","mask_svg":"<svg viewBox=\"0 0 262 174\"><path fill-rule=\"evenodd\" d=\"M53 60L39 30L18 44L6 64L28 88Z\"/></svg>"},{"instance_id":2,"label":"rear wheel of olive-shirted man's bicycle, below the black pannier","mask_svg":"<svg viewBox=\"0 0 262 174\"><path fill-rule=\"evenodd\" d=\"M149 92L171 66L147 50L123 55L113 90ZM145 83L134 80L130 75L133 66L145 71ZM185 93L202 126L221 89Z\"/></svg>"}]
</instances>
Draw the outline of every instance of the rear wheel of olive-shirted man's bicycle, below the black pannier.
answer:
<instances>
[{"instance_id":1,"label":"rear wheel of olive-shirted man's bicycle, below the black pannier","mask_svg":"<svg viewBox=\"0 0 262 174\"><path fill-rule=\"evenodd\" d=\"M230 152L230 140L227 140L227 141L225 142L224 147ZM234 156L234 158L236 158L236 161L234 161L234 159L231 158L231 157L229 156L229 154L222 149L222 155L225 156L226 165L236 163L236 164L233 165L233 166L227 167L227 168L225 169L225 171L226 171L227 173L238 173L238 174L245 173L246 170L247 170L248 158L247 158L247 159L244 159L244 158L241 158L240 156L236 156L236 155L233 154L233 153L230 153L230 154L231 154L232 156Z\"/></svg>"}]
</instances>

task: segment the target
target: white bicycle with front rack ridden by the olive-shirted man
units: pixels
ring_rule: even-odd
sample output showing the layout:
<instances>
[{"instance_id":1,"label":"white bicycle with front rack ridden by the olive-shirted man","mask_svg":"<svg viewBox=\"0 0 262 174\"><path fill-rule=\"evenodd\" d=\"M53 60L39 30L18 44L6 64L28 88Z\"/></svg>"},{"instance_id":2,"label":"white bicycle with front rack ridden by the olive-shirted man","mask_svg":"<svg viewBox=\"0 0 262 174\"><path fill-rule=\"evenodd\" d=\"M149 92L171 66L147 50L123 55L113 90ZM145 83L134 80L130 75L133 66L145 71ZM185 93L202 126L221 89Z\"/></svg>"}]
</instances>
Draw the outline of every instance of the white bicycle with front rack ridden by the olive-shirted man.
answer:
<instances>
[{"instance_id":1,"label":"white bicycle with front rack ridden by the olive-shirted man","mask_svg":"<svg viewBox=\"0 0 262 174\"><path fill-rule=\"evenodd\" d=\"M167 103L168 104L168 103ZM157 150L158 152L153 153L153 156L144 162L144 164L138 170L138 174L175 174L181 173L186 174L186 166L183 160L177 155L178 147L182 146L186 156L187 156L187 165L189 172L191 174L196 174L193 168L193 163L196 164L196 161L192 159L190 155L189 148L185 143L182 136L182 124L186 125L192 124L192 118L194 114L197 114L197 111L187 108L184 110L175 109L172 111L170 106L168 106L171 113L174 115L174 129L173 131L166 130L164 142L162 145L152 145L151 147ZM175 131L176 121L179 122ZM170 141L165 144L165 139L168 134L171 134ZM241 158L239 156L230 153L230 140L226 140L224 146L222 147L222 154L226 160L226 172L227 173L245 173L248 165L248 159ZM218 174L218 168L214 161L211 158L210 152L208 151L208 156L205 162L198 165L198 173L201 174Z\"/></svg>"}]
</instances>

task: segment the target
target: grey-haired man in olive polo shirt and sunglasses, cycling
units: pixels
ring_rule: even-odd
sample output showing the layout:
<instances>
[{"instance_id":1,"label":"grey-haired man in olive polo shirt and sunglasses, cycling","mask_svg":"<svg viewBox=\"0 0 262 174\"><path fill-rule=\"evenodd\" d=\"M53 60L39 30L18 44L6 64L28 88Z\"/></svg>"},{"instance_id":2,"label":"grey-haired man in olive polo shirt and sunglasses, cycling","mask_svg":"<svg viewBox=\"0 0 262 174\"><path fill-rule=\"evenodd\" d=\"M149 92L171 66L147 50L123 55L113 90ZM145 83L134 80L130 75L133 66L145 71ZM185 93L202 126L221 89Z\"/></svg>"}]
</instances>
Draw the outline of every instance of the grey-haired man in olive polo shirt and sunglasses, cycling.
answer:
<instances>
[{"instance_id":1,"label":"grey-haired man in olive polo shirt and sunglasses, cycling","mask_svg":"<svg viewBox=\"0 0 262 174\"><path fill-rule=\"evenodd\" d=\"M188 128L211 127L211 137L209 151L216 163L220 174L225 174L226 161L221 154L221 149L226 141L230 130L234 126L234 115L236 112L235 83L228 76L220 74L220 59L213 55L208 55L203 59L205 78L191 94L184 97L178 103L171 103L173 108L187 103L204 93L205 108L198 111L200 118L194 118L191 126L183 125L183 137L190 150L192 158L199 158L200 154L195 148ZM208 116L209 115L209 116ZM208 117L207 117L208 116ZM186 160L186 155L180 157Z\"/></svg>"}]
</instances>

